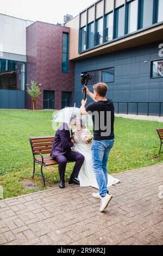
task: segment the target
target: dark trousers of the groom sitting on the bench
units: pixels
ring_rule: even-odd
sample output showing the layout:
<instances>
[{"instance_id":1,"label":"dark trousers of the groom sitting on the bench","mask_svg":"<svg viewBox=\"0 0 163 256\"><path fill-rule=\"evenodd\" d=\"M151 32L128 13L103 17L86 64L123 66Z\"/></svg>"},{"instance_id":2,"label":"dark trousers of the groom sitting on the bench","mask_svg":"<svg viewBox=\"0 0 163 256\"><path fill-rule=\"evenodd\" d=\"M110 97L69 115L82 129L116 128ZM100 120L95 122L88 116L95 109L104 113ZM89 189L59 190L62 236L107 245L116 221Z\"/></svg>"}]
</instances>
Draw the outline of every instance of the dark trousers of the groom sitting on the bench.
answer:
<instances>
[{"instance_id":1,"label":"dark trousers of the groom sitting on the bench","mask_svg":"<svg viewBox=\"0 0 163 256\"><path fill-rule=\"evenodd\" d=\"M84 162L84 156L82 154L70 151L64 155L56 156L54 159L58 162L59 175L62 181L65 180L65 170L68 161L76 162L73 168L73 172L71 174L71 179L78 178L80 168L82 167Z\"/></svg>"}]
</instances>

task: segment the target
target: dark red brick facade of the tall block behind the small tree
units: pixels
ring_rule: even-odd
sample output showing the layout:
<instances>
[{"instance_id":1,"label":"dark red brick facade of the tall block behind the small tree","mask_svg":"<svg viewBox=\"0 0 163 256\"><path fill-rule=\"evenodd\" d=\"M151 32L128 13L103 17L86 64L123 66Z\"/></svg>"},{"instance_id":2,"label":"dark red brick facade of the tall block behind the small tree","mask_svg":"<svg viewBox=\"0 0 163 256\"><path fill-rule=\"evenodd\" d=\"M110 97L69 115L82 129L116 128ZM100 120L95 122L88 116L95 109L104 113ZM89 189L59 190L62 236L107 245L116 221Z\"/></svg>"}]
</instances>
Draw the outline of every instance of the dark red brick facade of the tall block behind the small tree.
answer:
<instances>
[{"instance_id":1,"label":"dark red brick facade of the tall block behind the small tree","mask_svg":"<svg viewBox=\"0 0 163 256\"><path fill-rule=\"evenodd\" d=\"M43 90L55 91L55 109L61 108L61 92L72 92L74 102L74 64L69 62L68 73L62 73L62 33L70 28L35 22L27 28L27 84L41 84L36 108L43 109ZM30 108L27 95L27 108Z\"/></svg>"}]
</instances>

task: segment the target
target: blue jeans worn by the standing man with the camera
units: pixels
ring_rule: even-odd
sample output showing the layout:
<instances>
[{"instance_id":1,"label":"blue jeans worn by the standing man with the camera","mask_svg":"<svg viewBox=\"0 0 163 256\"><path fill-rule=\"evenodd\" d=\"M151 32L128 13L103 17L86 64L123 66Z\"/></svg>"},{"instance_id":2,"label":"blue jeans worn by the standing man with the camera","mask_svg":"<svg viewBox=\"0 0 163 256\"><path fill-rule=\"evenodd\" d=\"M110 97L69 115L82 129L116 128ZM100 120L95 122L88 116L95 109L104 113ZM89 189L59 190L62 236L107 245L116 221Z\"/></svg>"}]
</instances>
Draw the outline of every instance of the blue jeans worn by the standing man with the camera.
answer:
<instances>
[{"instance_id":1,"label":"blue jeans worn by the standing man with the camera","mask_svg":"<svg viewBox=\"0 0 163 256\"><path fill-rule=\"evenodd\" d=\"M107 141L94 141L92 142L92 160L93 170L96 175L96 180L99 186L99 194L105 197L108 191L108 171L107 162L111 148L114 145L114 139Z\"/></svg>"}]
</instances>

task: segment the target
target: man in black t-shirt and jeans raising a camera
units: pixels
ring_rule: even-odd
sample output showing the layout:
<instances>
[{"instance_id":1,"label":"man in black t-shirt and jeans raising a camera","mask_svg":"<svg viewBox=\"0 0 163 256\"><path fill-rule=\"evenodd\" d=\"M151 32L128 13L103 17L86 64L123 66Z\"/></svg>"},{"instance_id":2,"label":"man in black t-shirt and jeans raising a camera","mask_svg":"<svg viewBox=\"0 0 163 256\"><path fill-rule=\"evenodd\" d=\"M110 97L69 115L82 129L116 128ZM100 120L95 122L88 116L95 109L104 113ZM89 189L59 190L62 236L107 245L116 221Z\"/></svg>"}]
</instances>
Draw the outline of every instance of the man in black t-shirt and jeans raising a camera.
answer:
<instances>
[{"instance_id":1,"label":"man in black t-shirt and jeans raising a camera","mask_svg":"<svg viewBox=\"0 0 163 256\"><path fill-rule=\"evenodd\" d=\"M114 105L111 100L106 99L108 86L105 83L97 83L93 86L94 93L91 93L87 87L84 87L86 94L94 101L87 107L86 100L82 100L80 113L82 115L92 114L93 120L93 142L92 142L92 160L93 170L96 174L99 193L93 193L92 196L101 199L100 211L104 211L108 206L112 195L109 194L107 162L111 148L114 145ZM84 93L84 89L82 92Z\"/></svg>"}]
</instances>

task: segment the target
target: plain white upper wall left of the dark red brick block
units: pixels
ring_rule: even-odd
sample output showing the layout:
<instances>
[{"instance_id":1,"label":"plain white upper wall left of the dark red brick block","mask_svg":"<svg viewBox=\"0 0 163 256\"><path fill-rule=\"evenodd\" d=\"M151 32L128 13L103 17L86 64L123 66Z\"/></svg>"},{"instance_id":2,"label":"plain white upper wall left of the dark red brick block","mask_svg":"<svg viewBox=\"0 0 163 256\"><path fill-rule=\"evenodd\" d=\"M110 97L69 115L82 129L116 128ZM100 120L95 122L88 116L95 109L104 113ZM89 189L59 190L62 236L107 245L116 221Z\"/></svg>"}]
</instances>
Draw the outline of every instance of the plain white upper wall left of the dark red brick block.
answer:
<instances>
[{"instance_id":1,"label":"plain white upper wall left of the dark red brick block","mask_svg":"<svg viewBox=\"0 0 163 256\"><path fill-rule=\"evenodd\" d=\"M0 14L0 52L26 55L26 27L32 21Z\"/></svg>"}]
</instances>

